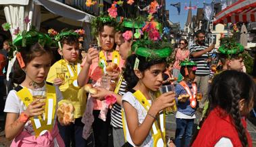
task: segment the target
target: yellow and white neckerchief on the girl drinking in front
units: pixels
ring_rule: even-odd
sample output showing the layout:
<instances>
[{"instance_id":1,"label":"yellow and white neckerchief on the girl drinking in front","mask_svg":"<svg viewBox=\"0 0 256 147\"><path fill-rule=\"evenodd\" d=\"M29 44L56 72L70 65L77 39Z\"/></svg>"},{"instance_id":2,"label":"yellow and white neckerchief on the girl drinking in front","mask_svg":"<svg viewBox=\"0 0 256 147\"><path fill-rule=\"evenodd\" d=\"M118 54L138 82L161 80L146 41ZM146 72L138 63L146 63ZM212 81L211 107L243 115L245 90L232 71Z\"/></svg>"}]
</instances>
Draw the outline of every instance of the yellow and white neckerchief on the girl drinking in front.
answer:
<instances>
[{"instance_id":1,"label":"yellow and white neckerchief on the girl drinking in front","mask_svg":"<svg viewBox=\"0 0 256 147\"><path fill-rule=\"evenodd\" d=\"M151 107L151 104L147 100L147 98L143 95L143 93L140 92L140 90L137 90L133 93L135 98L140 102L140 105L143 105L146 111L149 111L149 108ZM122 109L122 123L124 128L124 139L126 140L126 122L124 120L125 114L124 110ZM166 146L165 141L165 114L160 113L159 114L159 122L155 120L155 122L152 125L151 128L151 134L153 136L153 146ZM159 124L160 123L160 124Z\"/></svg>"}]
</instances>

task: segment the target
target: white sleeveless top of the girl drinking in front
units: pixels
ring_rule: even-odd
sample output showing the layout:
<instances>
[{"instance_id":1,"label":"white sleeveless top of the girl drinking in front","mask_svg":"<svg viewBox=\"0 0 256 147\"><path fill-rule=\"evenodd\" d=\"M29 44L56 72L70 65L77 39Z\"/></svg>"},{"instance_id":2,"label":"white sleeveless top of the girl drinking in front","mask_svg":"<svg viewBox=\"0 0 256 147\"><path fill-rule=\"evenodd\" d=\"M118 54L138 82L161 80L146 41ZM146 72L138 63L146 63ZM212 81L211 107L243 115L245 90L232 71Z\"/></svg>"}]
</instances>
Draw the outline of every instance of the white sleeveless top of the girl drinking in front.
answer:
<instances>
[{"instance_id":1,"label":"white sleeveless top of the girl drinking in front","mask_svg":"<svg viewBox=\"0 0 256 147\"><path fill-rule=\"evenodd\" d=\"M129 102L132 107L134 107L138 113L138 123L139 125L143 123L145 117L147 116L147 111L143 107L143 105L140 104L140 102L134 97L134 95L131 92L126 92L124 96L122 97L122 101ZM149 103L151 103L151 100L149 100ZM126 121L126 119L124 119ZM132 142L132 138L130 137L130 133L128 130L127 122L125 123L126 127L126 140L132 146L135 146L135 144ZM151 147L153 146L153 137L151 135L151 132L147 136L146 140L141 144L143 147Z\"/></svg>"}]
</instances>

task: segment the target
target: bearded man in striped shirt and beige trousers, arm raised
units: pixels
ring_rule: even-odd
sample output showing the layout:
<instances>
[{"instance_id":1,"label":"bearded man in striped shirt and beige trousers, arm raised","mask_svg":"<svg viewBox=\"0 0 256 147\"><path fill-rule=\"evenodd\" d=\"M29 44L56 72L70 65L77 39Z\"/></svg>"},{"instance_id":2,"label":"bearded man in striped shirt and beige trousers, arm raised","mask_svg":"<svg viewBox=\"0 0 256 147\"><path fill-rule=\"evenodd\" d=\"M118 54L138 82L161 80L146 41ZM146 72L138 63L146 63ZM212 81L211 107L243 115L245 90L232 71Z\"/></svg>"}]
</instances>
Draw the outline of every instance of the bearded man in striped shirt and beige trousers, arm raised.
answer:
<instances>
[{"instance_id":1,"label":"bearded man in striped shirt and beige trousers, arm raised","mask_svg":"<svg viewBox=\"0 0 256 147\"><path fill-rule=\"evenodd\" d=\"M195 33L195 44L190 46L190 59L197 63L196 80L197 86L203 94L203 99L199 102L199 110L201 111L208 98L208 80L210 74L209 63L207 59L211 57L211 51L215 45L205 45L205 32L198 30Z\"/></svg>"}]
</instances>

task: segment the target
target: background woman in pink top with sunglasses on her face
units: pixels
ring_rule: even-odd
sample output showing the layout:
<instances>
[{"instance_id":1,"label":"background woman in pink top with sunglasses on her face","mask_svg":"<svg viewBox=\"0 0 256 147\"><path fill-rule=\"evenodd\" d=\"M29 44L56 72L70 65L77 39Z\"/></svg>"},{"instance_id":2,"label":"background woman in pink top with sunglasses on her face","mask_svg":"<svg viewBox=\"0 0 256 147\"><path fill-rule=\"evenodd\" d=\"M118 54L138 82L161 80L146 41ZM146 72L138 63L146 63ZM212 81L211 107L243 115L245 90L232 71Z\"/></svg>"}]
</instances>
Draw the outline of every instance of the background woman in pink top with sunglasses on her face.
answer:
<instances>
[{"instance_id":1,"label":"background woman in pink top with sunglasses on her face","mask_svg":"<svg viewBox=\"0 0 256 147\"><path fill-rule=\"evenodd\" d=\"M180 39L180 47L176 49L174 69L172 74L174 77L178 78L178 73L180 73L180 61L184 61L189 57L188 41L186 39Z\"/></svg>"}]
</instances>

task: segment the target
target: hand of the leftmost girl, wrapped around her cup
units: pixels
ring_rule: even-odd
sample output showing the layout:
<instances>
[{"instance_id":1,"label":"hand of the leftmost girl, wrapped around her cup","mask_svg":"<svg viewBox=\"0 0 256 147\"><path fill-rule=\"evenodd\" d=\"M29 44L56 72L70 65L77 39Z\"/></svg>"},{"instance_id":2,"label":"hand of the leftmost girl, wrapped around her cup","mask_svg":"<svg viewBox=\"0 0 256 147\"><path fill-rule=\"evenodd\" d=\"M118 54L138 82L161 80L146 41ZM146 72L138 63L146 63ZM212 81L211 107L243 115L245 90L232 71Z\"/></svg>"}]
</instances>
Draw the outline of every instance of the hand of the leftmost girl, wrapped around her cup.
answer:
<instances>
[{"instance_id":1,"label":"hand of the leftmost girl, wrapped around her cup","mask_svg":"<svg viewBox=\"0 0 256 147\"><path fill-rule=\"evenodd\" d=\"M38 115L42 115L45 108L43 106L45 105L45 102L39 102L40 100L34 100L28 105L28 108L24 111L28 117L34 117Z\"/></svg>"}]
</instances>

